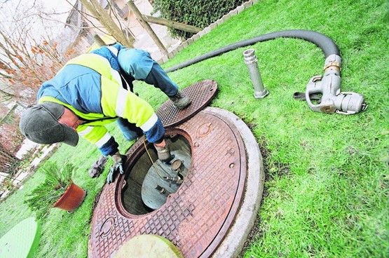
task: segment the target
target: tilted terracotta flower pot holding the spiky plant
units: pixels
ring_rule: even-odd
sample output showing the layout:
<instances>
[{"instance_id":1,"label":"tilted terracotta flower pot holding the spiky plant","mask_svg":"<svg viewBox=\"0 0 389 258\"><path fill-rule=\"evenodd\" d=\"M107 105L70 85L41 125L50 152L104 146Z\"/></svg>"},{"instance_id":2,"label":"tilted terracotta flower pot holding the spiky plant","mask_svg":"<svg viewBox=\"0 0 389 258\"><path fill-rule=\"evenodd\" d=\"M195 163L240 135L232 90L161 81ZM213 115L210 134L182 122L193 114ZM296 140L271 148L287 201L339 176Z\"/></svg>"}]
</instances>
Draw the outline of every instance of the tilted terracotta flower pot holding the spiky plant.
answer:
<instances>
[{"instance_id":1,"label":"tilted terracotta flower pot holding the spiky plant","mask_svg":"<svg viewBox=\"0 0 389 258\"><path fill-rule=\"evenodd\" d=\"M73 212L83 202L86 196L86 191L81 189L80 186L71 183L57 203L53 204L53 207Z\"/></svg>"}]
</instances>

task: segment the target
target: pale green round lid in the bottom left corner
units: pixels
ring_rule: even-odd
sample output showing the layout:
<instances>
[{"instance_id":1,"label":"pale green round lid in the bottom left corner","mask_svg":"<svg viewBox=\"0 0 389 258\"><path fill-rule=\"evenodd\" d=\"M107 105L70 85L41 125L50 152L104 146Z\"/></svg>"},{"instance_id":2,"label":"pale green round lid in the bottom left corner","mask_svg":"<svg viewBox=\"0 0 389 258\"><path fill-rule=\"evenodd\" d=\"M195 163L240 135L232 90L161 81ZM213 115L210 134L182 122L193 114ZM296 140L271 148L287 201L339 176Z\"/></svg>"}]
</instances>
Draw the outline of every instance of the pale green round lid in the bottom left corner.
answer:
<instances>
[{"instance_id":1,"label":"pale green round lid in the bottom left corner","mask_svg":"<svg viewBox=\"0 0 389 258\"><path fill-rule=\"evenodd\" d=\"M22 220L0 239L0 257L34 257L40 237L40 222L34 217Z\"/></svg>"}]
</instances>

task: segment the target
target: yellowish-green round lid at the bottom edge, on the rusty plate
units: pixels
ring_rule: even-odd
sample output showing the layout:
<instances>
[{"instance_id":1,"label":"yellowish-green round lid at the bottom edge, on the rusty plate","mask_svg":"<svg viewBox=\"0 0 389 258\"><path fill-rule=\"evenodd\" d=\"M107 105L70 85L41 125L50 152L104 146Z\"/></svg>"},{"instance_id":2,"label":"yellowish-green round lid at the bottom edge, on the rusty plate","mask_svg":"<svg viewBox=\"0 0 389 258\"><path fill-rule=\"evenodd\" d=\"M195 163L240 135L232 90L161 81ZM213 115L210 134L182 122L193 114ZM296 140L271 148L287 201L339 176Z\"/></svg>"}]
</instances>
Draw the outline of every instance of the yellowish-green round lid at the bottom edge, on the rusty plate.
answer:
<instances>
[{"instance_id":1,"label":"yellowish-green round lid at the bottom edge, on the rusty plate","mask_svg":"<svg viewBox=\"0 0 389 258\"><path fill-rule=\"evenodd\" d=\"M115 254L115 258L184 258L182 252L168 239L157 235L135 236Z\"/></svg>"}]
</instances>

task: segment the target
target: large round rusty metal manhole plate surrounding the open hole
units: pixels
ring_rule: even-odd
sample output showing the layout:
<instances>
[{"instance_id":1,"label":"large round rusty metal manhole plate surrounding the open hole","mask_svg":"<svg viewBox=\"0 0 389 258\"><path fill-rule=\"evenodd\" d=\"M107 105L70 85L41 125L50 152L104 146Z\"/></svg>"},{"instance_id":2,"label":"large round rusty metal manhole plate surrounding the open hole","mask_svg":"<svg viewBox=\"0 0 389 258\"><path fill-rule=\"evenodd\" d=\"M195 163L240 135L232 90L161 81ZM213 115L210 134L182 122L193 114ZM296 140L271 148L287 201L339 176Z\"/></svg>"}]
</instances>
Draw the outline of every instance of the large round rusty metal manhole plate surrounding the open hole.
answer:
<instances>
[{"instance_id":1,"label":"large round rusty metal manhole plate surrounding the open hole","mask_svg":"<svg viewBox=\"0 0 389 258\"><path fill-rule=\"evenodd\" d=\"M238 212L246 177L243 140L222 117L200 111L167 135L191 143L192 161L184 183L167 203L146 215L131 215L121 203L125 175L106 184L93 212L89 257L111 257L126 240L141 234L168 238L184 257L210 257ZM144 152L141 141L128 151L126 173Z\"/></svg>"}]
</instances>

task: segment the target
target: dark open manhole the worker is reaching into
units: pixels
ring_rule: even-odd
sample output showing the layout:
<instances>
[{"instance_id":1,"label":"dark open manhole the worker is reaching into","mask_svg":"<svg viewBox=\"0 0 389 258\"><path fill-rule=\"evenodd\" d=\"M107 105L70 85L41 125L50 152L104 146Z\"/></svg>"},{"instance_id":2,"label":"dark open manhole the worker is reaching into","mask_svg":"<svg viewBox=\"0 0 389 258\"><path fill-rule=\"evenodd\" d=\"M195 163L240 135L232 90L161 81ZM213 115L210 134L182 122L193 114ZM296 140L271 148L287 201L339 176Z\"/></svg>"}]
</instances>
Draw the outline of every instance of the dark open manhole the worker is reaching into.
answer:
<instances>
[{"instance_id":1,"label":"dark open manhole the worker is reaching into","mask_svg":"<svg viewBox=\"0 0 389 258\"><path fill-rule=\"evenodd\" d=\"M170 163L159 161L153 144L147 143L147 151L142 145L135 162L126 171L127 183L121 191L121 202L131 215L145 215L160 208L170 194L178 191L189 172L192 155L187 136L177 133L165 137L170 142L171 154L175 156Z\"/></svg>"}]
</instances>

